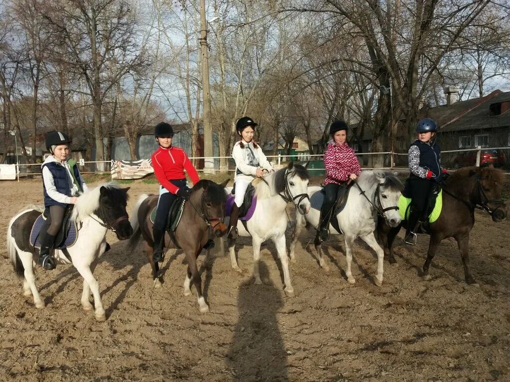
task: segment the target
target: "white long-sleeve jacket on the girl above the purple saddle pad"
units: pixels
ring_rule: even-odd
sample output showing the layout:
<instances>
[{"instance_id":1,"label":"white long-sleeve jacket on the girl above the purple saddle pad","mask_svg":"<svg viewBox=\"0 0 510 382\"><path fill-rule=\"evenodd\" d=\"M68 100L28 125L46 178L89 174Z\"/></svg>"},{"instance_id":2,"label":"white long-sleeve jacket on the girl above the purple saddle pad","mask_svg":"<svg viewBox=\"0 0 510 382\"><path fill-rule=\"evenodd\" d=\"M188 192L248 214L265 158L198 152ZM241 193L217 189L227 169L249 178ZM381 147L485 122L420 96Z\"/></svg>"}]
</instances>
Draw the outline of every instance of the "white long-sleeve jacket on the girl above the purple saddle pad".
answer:
<instances>
[{"instance_id":1,"label":"white long-sleeve jacket on the girl above the purple saddle pad","mask_svg":"<svg viewBox=\"0 0 510 382\"><path fill-rule=\"evenodd\" d=\"M241 143L244 148L241 147ZM262 148L260 146L255 148L253 143L244 140L236 142L232 149L232 156L236 162L235 179L252 180L257 176L257 169L266 169L267 171L273 169L266 155L262 152Z\"/></svg>"}]
</instances>

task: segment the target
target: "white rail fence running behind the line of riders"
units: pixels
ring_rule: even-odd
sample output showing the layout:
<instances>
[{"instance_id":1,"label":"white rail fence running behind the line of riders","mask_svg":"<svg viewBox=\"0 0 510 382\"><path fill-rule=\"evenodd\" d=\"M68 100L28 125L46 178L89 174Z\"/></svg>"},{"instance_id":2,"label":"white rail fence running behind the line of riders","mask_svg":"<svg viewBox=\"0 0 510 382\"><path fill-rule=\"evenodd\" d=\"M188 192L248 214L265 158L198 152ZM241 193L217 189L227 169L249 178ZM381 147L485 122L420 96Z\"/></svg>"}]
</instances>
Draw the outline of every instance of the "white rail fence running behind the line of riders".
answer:
<instances>
[{"instance_id":1,"label":"white rail fence running behind the line of riders","mask_svg":"<svg viewBox=\"0 0 510 382\"><path fill-rule=\"evenodd\" d=\"M481 160L481 155L482 155L482 152L484 151L489 151L489 150L510 150L510 147L477 147L477 148L472 148L472 149L460 149L460 150L445 150L445 151L442 151L441 154L443 155L443 158L444 158L444 154L449 154L449 153L463 153L463 152L476 152L476 162L474 163L475 166L480 166L480 160ZM390 163L390 166L387 166L387 167L384 167L384 166L381 166L381 167L377 167L378 169L404 169L403 166L395 166L395 157L398 157L398 156L406 156L407 153L399 153L399 152L392 152L392 151L384 151L384 152L364 152L364 153L356 153L356 155L358 156L370 156L370 155L382 155L382 156L387 156L389 155L390 156L390 160L389 160L389 163ZM510 152L508 153L508 155L510 155ZM273 163L274 165L278 165L278 166L281 166L282 163L286 162L288 158L292 158L294 160L297 160L297 161L307 161L307 160L310 160L310 159L313 159L313 158L322 158L324 155L323 154L300 154L300 153L296 153L296 154L291 154L291 155L281 155L281 154L278 154L278 155L268 155L267 157L268 158L273 158ZM190 157L190 159L221 159L221 158L224 158L224 159L232 159L231 156L209 156L209 157L206 157L206 156L197 156L197 157ZM383 161L385 162L385 160ZM111 160L91 160L91 161L85 161L83 159L81 159L79 161L79 165L81 167L83 166L87 166L91 163L105 163L105 167L108 168L108 170L105 170L105 171L83 171L82 174L105 174L105 173L110 173L110 170L109 170L109 165L111 163ZM36 168L36 170L33 170L33 171L28 171L29 169L31 168ZM19 181L19 178L20 177L27 177L27 176L40 176L41 175L41 172L40 172L40 167L41 167L41 163L18 163L16 165L16 176L17 176L17 179ZM374 167L367 167L367 166L362 166L364 169L373 169ZM447 167L447 166L446 166ZM24 172L20 172L20 168L26 168L26 170ZM322 168L319 168L319 169L309 169L310 171L314 172L314 171L324 171L324 169ZM234 169L228 169L228 170L223 170L223 169L197 169L197 171L201 172L201 171L207 171L207 172L213 172L213 173L224 173L224 172L233 172L235 171ZM507 175L510 175L510 173L506 172L505 174Z\"/></svg>"}]
</instances>

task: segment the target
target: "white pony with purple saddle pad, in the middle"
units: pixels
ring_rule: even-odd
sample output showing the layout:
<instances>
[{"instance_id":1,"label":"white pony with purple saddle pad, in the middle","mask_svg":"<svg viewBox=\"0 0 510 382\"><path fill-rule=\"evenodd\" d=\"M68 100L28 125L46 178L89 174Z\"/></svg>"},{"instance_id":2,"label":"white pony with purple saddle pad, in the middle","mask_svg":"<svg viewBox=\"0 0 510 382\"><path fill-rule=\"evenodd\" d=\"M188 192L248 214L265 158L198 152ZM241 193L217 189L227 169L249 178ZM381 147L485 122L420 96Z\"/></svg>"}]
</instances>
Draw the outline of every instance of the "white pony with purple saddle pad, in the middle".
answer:
<instances>
[{"instance_id":1,"label":"white pony with purple saddle pad, in the middle","mask_svg":"<svg viewBox=\"0 0 510 382\"><path fill-rule=\"evenodd\" d=\"M290 280L285 241L287 229L285 209L287 203L291 202L300 213L307 213L310 210L310 199L307 195L309 180L307 169L301 165L294 165L293 162L285 169L266 175L256 186L257 207L253 216L246 222L246 228L241 220L237 224L239 236L252 237L253 277L256 284L262 284L259 274L260 246L267 239L273 240L278 258L282 261L285 294L289 297L294 296L294 288ZM232 187L225 190L230 194ZM236 260L235 242L230 245L228 251L232 267L241 272Z\"/></svg>"}]
</instances>

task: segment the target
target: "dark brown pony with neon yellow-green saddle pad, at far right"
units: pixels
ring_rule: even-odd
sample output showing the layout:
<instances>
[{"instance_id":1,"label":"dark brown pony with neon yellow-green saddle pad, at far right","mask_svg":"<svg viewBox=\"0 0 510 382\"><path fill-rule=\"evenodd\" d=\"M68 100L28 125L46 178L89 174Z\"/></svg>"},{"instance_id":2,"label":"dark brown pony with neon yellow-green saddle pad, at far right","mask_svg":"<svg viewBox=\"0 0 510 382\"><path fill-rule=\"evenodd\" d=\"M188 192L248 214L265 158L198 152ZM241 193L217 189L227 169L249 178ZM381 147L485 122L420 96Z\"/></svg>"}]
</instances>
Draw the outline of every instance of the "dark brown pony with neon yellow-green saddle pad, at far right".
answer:
<instances>
[{"instance_id":1,"label":"dark brown pony with neon yellow-green saddle pad, at far right","mask_svg":"<svg viewBox=\"0 0 510 382\"><path fill-rule=\"evenodd\" d=\"M505 175L501 170L490 167L466 167L455 171L443 184L443 209L439 219L429 225L430 242L427 259L423 264L423 279L430 280L428 268L439 243L447 237L457 241L464 264L464 276L468 284L476 284L469 270L469 233L475 223L475 208L487 211L494 222L506 217L506 209L501 199ZM402 222L405 227L406 221ZM377 232L385 255L390 263L396 263L393 256L393 241L400 227L390 228L379 219Z\"/></svg>"}]
</instances>

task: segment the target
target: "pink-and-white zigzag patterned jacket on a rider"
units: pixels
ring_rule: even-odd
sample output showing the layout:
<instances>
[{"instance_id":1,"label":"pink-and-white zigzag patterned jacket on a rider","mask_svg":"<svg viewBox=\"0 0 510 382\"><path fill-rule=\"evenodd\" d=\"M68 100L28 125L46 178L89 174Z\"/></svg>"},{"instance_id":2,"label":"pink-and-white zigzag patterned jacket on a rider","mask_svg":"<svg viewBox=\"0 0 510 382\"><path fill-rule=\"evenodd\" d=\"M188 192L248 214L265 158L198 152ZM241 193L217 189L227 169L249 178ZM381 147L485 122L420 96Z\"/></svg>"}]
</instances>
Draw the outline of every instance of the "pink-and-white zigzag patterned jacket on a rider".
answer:
<instances>
[{"instance_id":1,"label":"pink-and-white zigzag patterned jacket on a rider","mask_svg":"<svg viewBox=\"0 0 510 382\"><path fill-rule=\"evenodd\" d=\"M349 180L350 174L360 175L361 173L360 162L347 142L341 145L337 145L334 141L328 142L324 153L324 167L326 169L324 184L340 184Z\"/></svg>"}]
</instances>

